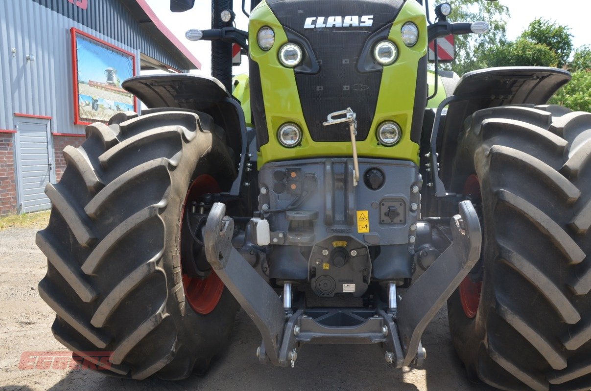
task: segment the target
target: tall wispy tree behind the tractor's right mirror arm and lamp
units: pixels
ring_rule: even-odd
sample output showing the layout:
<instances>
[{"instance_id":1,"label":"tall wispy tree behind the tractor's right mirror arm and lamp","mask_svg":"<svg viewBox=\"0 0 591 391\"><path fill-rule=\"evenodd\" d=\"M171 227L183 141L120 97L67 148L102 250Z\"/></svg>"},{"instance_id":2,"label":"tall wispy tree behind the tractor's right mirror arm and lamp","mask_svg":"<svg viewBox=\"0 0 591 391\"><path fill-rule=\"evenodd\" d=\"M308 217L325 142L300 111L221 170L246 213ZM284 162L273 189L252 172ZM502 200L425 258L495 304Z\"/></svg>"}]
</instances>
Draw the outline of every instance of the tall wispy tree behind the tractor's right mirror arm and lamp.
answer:
<instances>
[{"instance_id":1,"label":"tall wispy tree behind the tractor's right mirror arm and lamp","mask_svg":"<svg viewBox=\"0 0 591 391\"><path fill-rule=\"evenodd\" d=\"M498 1L486 0L454 0L451 4L452 14L448 17L449 21L485 21L491 27L489 32L482 35L456 35L456 60L451 64L451 69L462 75L483 68L484 63L479 58L480 52L505 41L509 8Z\"/></svg>"}]
</instances>

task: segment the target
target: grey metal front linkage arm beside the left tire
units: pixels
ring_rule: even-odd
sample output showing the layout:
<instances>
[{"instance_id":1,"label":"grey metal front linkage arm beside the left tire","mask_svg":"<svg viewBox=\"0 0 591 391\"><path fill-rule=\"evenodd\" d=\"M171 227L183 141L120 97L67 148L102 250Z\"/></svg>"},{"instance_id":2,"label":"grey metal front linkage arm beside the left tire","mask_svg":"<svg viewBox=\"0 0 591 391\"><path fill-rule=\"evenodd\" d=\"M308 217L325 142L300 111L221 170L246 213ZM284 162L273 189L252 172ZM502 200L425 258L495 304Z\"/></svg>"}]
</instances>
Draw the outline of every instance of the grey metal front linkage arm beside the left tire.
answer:
<instances>
[{"instance_id":1,"label":"grey metal front linkage arm beside the left tire","mask_svg":"<svg viewBox=\"0 0 591 391\"><path fill-rule=\"evenodd\" d=\"M234 222L224 217L226 205L213 204L207 222L203 242L207 262L230 293L261 331L264 354L275 365L284 332L285 311L279 296L267 281L232 247Z\"/></svg>"}]
</instances>

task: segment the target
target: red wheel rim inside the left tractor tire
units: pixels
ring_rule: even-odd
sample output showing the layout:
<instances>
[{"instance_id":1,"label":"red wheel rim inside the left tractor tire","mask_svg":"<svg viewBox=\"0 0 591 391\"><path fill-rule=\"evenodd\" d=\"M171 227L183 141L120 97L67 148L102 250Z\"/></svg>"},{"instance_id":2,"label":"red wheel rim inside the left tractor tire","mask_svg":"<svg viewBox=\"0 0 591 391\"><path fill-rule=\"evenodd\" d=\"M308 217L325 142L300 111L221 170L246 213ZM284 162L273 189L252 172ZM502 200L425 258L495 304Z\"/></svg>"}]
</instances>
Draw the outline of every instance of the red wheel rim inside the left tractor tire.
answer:
<instances>
[{"instance_id":1,"label":"red wheel rim inside the left tractor tire","mask_svg":"<svg viewBox=\"0 0 591 391\"><path fill-rule=\"evenodd\" d=\"M202 194L219 193L220 191L221 189L215 178L207 174L200 175L193 180L193 183L189 187L184 208L190 205L191 202L197 201ZM181 228L183 227L183 219L186 213L184 208L183 215L181 216ZM185 297L191 308L196 313L206 315L216 308L217 303L222 298L224 285L222 280L217 277L217 274L212 271L207 278L189 277L189 275L183 273L183 287Z\"/></svg>"}]
</instances>

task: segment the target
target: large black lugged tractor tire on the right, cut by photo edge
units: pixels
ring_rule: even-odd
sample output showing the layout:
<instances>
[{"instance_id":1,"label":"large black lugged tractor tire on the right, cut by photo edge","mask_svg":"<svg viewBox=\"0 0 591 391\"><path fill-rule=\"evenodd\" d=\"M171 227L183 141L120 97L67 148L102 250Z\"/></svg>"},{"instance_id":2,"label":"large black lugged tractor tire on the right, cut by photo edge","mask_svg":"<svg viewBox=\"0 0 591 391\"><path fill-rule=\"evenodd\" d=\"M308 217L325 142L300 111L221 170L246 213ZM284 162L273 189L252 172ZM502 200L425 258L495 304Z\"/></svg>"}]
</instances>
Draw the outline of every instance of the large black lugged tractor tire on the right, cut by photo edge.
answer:
<instances>
[{"instance_id":1,"label":"large black lugged tractor tire on the right, cut by photo edge","mask_svg":"<svg viewBox=\"0 0 591 391\"><path fill-rule=\"evenodd\" d=\"M477 203L482 256L448 301L471 379L591 389L591 114L506 106L465 121L452 189Z\"/></svg>"}]
</instances>

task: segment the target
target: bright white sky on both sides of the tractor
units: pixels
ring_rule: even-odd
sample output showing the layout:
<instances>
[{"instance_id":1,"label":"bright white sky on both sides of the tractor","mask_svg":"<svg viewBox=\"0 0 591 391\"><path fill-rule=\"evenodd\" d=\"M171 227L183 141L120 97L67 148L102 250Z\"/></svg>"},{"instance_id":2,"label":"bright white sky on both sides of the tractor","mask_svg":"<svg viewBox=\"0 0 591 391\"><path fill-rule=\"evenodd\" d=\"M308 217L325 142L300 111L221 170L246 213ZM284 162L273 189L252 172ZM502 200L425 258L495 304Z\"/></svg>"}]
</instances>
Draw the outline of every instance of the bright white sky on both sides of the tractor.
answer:
<instances>
[{"instance_id":1,"label":"bright white sky on both sides of the tractor","mask_svg":"<svg viewBox=\"0 0 591 391\"><path fill-rule=\"evenodd\" d=\"M349 0L343 0L349 1ZM453 6L453 0L448 0ZM511 17L507 21L507 38L514 40L527 28L535 18L545 18L556 21L561 25L571 28L574 47L591 44L591 34L587 30L589 24L589 3L583 0L500 0L501 4L508 6ZM168 0L147 0L148 4L158 15L161 21L191 50L203 64L202 72L210 73L210 43L191 42L184 37L184 33L190 28L207 29L211 26L211 3L197 0L191 11L181 14L173 14L168 9ZM248 7L249 1L246 1ZM246 30L248 19L240 11L241 0L234 0L236 11L236 27ZM242 65L234 68L234 73L248 71L246 58L242 58Z\"/></svg>"}]
</instances>

